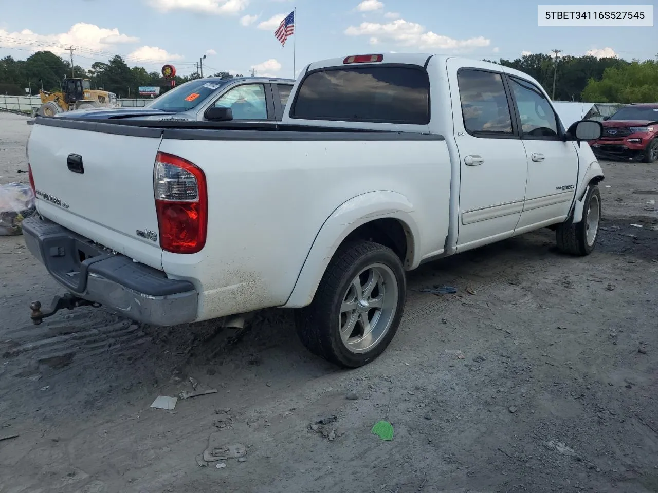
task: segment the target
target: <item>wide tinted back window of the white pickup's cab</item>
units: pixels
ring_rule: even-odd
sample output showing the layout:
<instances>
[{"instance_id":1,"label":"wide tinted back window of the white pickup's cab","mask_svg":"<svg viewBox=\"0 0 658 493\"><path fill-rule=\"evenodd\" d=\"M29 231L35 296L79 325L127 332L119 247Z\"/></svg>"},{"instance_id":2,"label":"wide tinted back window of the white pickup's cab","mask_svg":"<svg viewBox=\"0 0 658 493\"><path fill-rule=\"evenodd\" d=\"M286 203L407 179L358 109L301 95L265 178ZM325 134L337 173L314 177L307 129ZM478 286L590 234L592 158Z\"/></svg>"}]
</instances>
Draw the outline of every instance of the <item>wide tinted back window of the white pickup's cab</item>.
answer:
<instances>
[{"instance_id":1,"label":"wide tinted back window of the white pickup's cab","mask_svg":"<svg viewBox=\"0 0 658 493\"><path fill-rule=\"evenodd\" d=\"M426 125L430 122L427 72L392 66L314 72L301 83L291 117Z\"/></svg>"}]
</instances>

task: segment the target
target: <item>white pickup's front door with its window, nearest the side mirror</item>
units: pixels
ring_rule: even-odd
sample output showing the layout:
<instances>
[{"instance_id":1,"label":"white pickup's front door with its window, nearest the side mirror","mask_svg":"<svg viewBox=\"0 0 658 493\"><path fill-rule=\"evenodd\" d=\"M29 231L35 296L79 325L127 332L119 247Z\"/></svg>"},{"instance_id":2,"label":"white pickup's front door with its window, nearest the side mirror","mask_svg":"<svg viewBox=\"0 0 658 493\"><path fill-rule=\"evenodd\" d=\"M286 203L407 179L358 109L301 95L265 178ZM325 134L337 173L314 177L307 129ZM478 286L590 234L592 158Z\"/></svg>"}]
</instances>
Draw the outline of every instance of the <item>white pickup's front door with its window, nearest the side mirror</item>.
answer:
<instances>
[{"instance_id":1,"label":"white pickup's front door with its window, nearest the side mirror","mask_svg":"<svg viewBox=\"0 0 658 493\"><path fill-rule=\"evenodd\" d=\"M509 87L528 162L526 199L515 232L519 234L567 218L576 193L578 151L572 141L565 142L564 129L542 89L515 76L509 76Z\"/></svg>"}]
</instances>

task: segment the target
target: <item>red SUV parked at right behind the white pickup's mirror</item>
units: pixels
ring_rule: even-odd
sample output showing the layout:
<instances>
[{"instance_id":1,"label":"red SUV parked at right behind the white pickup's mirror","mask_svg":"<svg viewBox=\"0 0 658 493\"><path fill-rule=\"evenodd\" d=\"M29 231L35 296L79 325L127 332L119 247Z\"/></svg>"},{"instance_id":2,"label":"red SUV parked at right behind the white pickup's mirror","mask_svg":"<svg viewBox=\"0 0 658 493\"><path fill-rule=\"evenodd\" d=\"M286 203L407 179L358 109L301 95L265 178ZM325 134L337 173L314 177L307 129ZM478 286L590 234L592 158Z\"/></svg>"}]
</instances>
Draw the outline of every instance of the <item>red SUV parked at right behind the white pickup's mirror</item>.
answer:
<instances>
[{"instance_id":1,"label":"red SUV parked at right behind the white pickup's mirror","mask_svg":"<svg viewBox=\"0 0 658 493\"><path fill-rule=\"evenodd\" d=\"M590 142L598 158L642 162L658 160L658 104L621 108L603 118L603 134Z\"/></svg>"}]
</instances>

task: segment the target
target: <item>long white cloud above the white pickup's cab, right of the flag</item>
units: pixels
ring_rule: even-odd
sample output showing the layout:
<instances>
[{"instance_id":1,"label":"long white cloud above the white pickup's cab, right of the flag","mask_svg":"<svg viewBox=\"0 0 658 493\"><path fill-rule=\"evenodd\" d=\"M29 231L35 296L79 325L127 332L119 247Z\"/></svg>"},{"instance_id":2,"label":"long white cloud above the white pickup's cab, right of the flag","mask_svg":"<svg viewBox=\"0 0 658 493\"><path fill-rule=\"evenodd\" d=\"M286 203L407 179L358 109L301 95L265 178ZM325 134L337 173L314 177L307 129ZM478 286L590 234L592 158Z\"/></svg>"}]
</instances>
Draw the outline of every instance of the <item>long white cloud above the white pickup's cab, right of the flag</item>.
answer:
<instances>
[{"instance_id":1,"label":"long white cloud above the white pickup's cab, right of the flag","mask_svg":"<svg viewBox=\"0 0 658 493\"><path fill-rule=\"evenodd\" d=\"M471 51L491 44L491 40L483 36L453 39L427 31L424 26L415 22L407 22L404 19L393 20L388 24L362 22L359 26L349 26L345 30L345 34L348 36L368 35L380 40L393 41L402 46L446 51Z\"/></svg>"}]
</instances>

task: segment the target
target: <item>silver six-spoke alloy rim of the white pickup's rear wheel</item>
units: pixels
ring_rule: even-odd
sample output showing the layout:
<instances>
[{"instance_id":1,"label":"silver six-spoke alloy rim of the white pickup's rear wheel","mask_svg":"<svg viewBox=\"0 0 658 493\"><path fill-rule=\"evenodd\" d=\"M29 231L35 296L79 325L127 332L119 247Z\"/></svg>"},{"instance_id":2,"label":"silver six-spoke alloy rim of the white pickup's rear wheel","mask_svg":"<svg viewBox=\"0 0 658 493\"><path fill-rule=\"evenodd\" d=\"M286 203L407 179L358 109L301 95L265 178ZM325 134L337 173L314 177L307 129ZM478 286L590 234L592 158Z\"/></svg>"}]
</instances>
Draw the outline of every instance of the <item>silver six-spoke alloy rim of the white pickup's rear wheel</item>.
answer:
<instances>
[{"instance_id":1,"label":"silver six-spoke alloy rim of the white pickup's rear wheel","mask_svg":"<svg viewBox=\"0 0 658 493\"><path fill-rule=\"evenodd\" d=\"M398 296L395 274L384 264L372 264L352 279L338 318L347 350L367 352L384 338L395 317Z\"/></svg>"}]
</instances>

